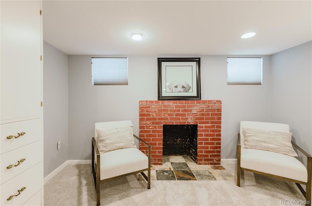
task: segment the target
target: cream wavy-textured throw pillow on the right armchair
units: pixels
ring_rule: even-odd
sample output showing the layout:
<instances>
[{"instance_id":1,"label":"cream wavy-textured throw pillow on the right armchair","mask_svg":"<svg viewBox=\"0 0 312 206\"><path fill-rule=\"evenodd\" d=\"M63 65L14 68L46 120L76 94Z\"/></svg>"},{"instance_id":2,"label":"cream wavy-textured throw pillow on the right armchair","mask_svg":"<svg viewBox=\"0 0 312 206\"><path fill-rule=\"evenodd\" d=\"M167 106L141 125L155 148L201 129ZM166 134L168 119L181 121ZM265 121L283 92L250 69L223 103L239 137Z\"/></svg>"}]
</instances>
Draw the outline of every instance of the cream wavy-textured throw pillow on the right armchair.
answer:
<instances>
[{"instance_id":1,"label":"cream wavy-textured throw pillow on the right armchair","mask_svg":"<svg viewBox=\"0 0 312 206\"><path fill-rule=\"evenodd\" d=\"M298 156L292 148L292 133L243 128L245 147Z\"/></svg>"}]
</instances>

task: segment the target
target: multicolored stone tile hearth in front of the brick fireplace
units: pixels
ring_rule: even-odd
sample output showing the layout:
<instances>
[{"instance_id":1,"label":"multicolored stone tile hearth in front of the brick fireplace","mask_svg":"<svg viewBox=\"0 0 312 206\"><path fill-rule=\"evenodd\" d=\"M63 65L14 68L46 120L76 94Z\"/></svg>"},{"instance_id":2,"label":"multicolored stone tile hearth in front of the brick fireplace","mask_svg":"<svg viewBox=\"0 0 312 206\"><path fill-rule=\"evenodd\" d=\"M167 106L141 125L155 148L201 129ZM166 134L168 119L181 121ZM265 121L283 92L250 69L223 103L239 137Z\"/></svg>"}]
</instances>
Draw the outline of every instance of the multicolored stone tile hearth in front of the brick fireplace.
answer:
<instances>
[{"instance_id":1,"label":"multicolored stone tile hearth in front of the brick fireplace","mask_svg":"<svg viewBox=\"0 0 312 206\"><path fill-rule=\"evenodd\" d=\"M187 155L163 156L162 165L153 165L151 180L230 180L234 176L221 165L197 165Z\"/></svg>"}]
</instances>

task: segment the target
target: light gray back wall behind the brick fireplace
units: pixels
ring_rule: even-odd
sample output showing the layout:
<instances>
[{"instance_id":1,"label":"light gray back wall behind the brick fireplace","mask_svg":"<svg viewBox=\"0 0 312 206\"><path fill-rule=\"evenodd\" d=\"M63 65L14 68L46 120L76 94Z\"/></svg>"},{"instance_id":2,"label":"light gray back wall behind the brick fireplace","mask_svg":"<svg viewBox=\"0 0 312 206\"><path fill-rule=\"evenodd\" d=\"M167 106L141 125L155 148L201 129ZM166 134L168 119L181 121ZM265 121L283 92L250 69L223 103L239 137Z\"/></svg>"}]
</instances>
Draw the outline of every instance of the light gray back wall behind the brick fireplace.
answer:
<instances>
[{"instance_id":1,"label":"light gray back wall behind the brick fireplace","mask_svg":"<svg viewBox=\"0 0 312 206\"><path fill-rule=\"evenodd\" d=\"M68 59L68 158L73 160L91 159L95 122L132 120L138 134L138 101L157 100L157 56L129 56L128 86L92 86L91 57ZM227 56L190 57L201 58L201 99L222 101L221 158L235 158L239 121L269 120L270 56L263 56L262 86L228 86Z\"/></svg>"}]
</instances>

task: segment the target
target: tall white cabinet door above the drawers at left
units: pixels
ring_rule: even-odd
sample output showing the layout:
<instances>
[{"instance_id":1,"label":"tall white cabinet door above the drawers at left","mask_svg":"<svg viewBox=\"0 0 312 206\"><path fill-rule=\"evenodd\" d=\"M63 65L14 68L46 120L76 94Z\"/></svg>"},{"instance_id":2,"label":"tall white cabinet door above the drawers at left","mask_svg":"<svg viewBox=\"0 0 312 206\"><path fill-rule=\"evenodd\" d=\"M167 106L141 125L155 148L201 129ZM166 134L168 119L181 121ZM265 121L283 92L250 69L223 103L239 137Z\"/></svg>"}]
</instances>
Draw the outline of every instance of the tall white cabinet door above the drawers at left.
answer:
<instances>
[{"instance_id":1,"label":"tall white cabinet door above the drawers at left","mask_svg":"<svg viewBox=\"0 0 312 206\"><path fill-rule=\"evenodd\" d=\"M1 123L41 115L41 2L0 1Z\"/></svg>"}]
</instances>

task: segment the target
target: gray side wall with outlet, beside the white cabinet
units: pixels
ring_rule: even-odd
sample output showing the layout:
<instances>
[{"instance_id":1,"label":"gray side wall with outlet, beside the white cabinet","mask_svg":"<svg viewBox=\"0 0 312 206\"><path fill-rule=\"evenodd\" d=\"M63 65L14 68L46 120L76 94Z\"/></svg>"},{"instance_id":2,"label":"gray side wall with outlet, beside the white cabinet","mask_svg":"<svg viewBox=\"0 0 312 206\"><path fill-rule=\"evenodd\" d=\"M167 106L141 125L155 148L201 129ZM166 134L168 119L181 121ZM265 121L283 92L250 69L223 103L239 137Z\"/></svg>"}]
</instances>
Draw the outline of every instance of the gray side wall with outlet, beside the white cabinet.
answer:
<instances>
[{"instance_id":1,"label":"gray side wall with outlet, beside the white cabinet","mask_svg":"<svg viewBox=\"0 0 312 206\"><path fill-rule=\"evenodd\" d=\"M45 177L68 159L68 55L43 42L43 59Z\"/></svg>"}]
</instances>

